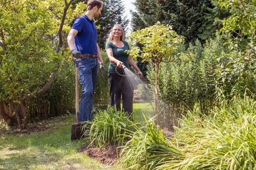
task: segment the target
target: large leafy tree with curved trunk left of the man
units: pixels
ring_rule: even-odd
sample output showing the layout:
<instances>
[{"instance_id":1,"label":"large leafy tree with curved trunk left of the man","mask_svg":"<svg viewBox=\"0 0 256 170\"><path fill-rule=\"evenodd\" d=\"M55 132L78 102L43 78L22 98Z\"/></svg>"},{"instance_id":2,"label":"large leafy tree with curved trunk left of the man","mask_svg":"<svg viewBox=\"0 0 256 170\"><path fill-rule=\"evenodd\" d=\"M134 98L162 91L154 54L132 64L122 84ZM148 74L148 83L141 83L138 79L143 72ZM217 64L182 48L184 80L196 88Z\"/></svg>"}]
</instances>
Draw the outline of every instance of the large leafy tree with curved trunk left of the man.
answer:
<instances>
[{"instance_id":1,"label":"large leafy tree with curved trunk left of the man","mask_svg":"<svg viewBox=\"0 0 256 170\"><path fill-rule=\"evenodd\" d=\"M27 102L50 88L64 59L64 31L85 4L0 0L0 118L27 127ZM79 9L78 9L79 8Z\"/></svg>"}]
</instances>

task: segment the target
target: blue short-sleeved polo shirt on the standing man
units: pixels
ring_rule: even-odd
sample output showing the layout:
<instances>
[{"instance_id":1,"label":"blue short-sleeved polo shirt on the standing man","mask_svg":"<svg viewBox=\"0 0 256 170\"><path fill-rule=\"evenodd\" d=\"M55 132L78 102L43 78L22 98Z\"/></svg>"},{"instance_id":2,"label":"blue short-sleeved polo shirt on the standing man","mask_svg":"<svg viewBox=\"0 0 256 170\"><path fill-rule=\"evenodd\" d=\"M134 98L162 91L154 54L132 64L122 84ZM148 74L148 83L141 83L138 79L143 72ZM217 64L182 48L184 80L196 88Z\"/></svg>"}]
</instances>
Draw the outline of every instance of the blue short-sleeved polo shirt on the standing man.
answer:
<instances>
[{"instance_id":1,"label":"blue short-sleeved polo shirt on the standing man","mask_svg":"<svg viewBox=\"0 0 256 170\"><path fill-rule=\"evenodd\" d=\"M78 31L74 37L74 46L77 51L81 51L82 54L98 54L98 31L94 20L90 20L83 14L74 21L72 29Z\"/></svg>"}]
</instances>

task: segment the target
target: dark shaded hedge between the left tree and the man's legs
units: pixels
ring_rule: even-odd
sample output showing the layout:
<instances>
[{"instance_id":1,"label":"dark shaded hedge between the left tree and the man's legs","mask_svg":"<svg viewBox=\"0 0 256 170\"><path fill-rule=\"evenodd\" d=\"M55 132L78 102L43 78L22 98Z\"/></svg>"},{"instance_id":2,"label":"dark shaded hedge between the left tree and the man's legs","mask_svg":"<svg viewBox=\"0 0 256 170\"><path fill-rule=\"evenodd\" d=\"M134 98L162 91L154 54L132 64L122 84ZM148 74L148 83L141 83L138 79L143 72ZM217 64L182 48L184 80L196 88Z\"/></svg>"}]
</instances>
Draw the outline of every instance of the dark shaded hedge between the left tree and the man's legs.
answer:
<instances>
[{"instance_id":1,"label":"dark shaded hedge between the left tree and the man's legs","mask_svg":"<svg viewBox=\"0 0 256 170\"><path fill-rule=\"evenodd\" d=\"M50 89L27 103L27 112L29 122L75 112L75 70L71 59L62 61Z\"/></svg>"}]
</instances>

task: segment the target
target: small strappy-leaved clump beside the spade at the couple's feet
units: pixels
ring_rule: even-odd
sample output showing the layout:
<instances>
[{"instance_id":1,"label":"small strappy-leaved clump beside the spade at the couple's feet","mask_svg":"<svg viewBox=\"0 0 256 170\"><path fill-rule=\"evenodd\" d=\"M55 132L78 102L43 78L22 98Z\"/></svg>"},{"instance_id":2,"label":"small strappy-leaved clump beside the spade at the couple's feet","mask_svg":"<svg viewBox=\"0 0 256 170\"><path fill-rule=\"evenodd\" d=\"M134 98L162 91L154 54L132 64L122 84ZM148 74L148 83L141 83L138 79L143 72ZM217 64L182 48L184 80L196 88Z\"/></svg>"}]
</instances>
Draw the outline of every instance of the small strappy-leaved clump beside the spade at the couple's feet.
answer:
<instances>
[{"instance_id":1,"label":"small strappy-leaved clump beside the spade at the couple's feet","mask_svg":"<svg viewBox=\"0 0 256 170\"><path fill-rule=\"evenodd\" d=\"M130 120L127 112L118 111L116 107L100 110L86 126L90 127L90 134L85 139L89 139L89 146L98 147L107 144L122 145L128 140L128 134L135 132L137 128L137 124Z\"/></svg>"}]
</instances>

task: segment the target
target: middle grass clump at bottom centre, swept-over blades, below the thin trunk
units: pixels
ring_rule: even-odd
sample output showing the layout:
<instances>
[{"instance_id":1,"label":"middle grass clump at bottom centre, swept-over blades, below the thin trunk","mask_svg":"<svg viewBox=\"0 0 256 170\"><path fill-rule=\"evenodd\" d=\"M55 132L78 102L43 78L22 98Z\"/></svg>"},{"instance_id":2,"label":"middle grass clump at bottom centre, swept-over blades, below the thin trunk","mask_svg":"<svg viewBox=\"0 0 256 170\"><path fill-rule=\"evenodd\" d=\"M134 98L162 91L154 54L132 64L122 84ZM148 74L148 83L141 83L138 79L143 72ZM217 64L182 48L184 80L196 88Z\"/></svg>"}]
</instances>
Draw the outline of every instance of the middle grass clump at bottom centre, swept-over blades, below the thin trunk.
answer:
<instances>
[{"instance_id":1,"label":"middle grass clump at bottom centre, swept-over blades, below the thin trunk","mask_svg":"<svg viewBox=\"0 0 256 170\"><path fill-rule=\"evenodd\" d=\"M166 163L175 166L183 157L179 147L164 135L159 126L155 126L154 121L149 120L123 146L120 162L130 170L163 170Z\"/></svg>"}]
</instances>

